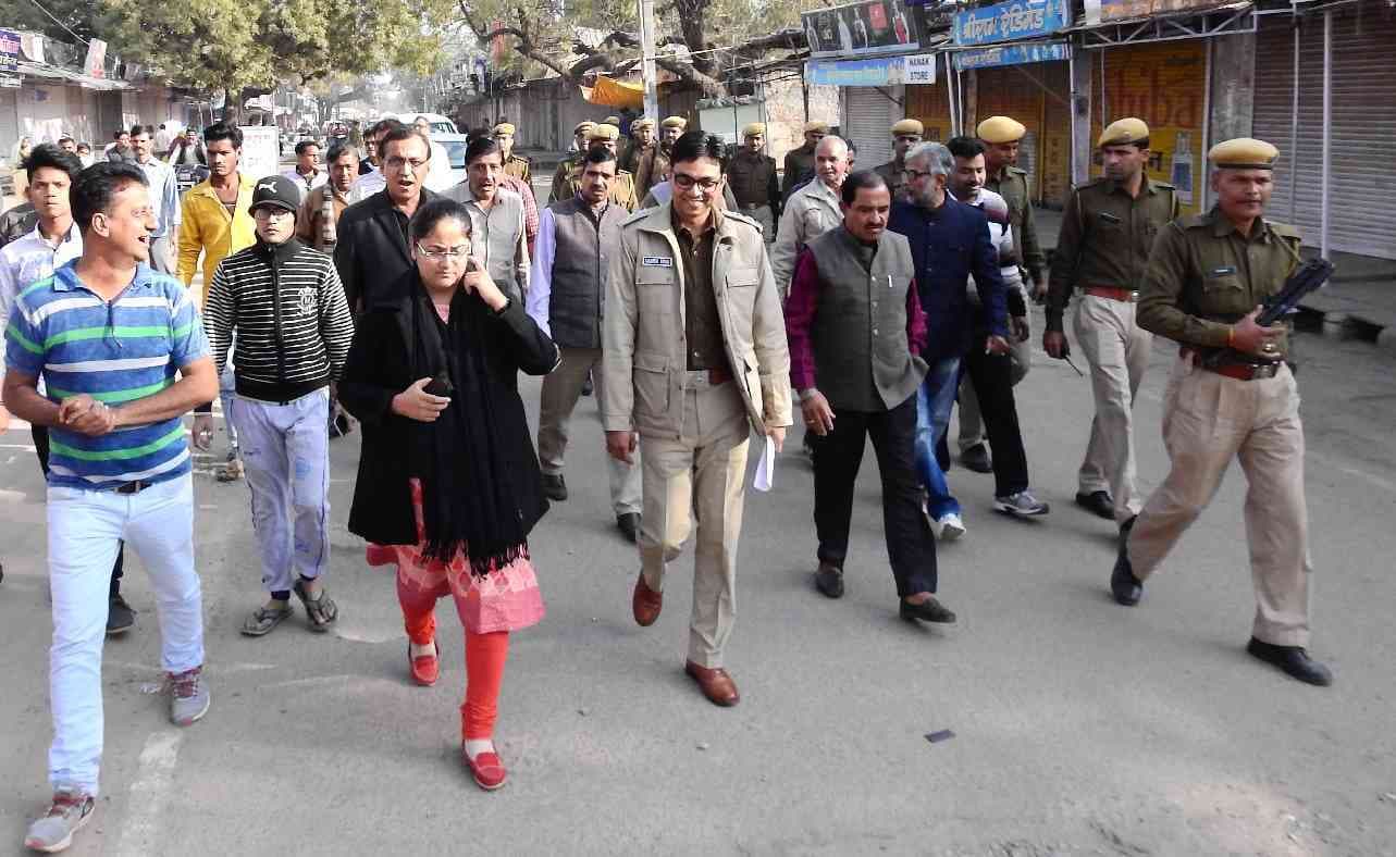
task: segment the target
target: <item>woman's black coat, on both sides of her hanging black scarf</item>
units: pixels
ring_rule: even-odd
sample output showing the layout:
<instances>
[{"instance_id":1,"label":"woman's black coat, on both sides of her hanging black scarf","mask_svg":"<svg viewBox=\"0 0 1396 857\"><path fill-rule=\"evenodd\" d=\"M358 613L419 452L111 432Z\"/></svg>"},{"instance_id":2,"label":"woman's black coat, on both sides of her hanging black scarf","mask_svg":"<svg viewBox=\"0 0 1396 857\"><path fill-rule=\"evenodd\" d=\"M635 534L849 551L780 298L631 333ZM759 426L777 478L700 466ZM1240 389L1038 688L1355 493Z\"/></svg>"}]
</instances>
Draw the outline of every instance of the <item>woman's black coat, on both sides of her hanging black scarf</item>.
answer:
<instances>
[{"instance_id":1,"label":"woman's black coat, on both sides of her hanging black scarf","mask_svg":"<svg viewBox=\"0 0 1396 857\"><path fill-rule=\"evenodd\" d=\"M360 317L349 348L349 363L339 380L339 402L363 423L349 532L378 544L417 543L409 487L412 442L408 428L412 420L392 413L392 396L422 377L412 367L416 335L410 306L416 295L413 278L416 269L394 282L389 296L373 303ZM515 473L514 497L528 532L547 511L547 500L543 497L543 476L533 452L524 399L519 398L518 373L546 375L553 371L558 362L557 346L533 324L519 301L512 301L498 315L480 300L468 306L489 317L486 329L490 336L484 342L489 395L494 413L504 420L505 435L515 438L505 455L508 470Z\"/></svg>"}]
</instances>

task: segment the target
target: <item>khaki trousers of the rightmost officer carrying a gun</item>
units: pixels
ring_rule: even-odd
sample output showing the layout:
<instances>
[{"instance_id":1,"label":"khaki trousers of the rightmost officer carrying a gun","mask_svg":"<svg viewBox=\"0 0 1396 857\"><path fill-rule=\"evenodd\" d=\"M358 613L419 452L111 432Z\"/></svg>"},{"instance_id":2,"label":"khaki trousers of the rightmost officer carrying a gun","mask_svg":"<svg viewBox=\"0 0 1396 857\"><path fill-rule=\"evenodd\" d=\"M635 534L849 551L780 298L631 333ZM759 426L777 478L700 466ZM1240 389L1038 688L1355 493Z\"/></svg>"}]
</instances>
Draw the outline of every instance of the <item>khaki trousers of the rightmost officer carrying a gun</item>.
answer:
<instances>
[{"instance_id":1,"label":"khaki trousers of the rightmost officer carrying a gun","mask_svg":"<svg viewBox=\"0 0 1396 857\"><path fill-rule=\"evenodd\" d=\"M1157 571L1182 533L1216 495L1233 458L1245 493L1245 536L1255 585L1252 635L1277 646L1307 646L1308 507L1304 501L1304 426L1294 375L1238 381L1180 359L1163 399L1163 442L1171 468L1129 533L1129 561L1141 581Z\"/></svg>"}]
</instances>

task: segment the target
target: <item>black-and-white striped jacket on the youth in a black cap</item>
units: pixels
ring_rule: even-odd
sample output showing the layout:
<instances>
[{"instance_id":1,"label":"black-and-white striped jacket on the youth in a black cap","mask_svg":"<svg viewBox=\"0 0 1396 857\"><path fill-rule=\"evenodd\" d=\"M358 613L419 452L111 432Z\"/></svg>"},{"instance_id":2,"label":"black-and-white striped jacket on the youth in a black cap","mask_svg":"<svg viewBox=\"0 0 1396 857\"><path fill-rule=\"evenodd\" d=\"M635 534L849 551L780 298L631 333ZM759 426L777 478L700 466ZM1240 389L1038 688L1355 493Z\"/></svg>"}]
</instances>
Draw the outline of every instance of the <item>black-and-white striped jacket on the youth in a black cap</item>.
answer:
<instances>
[{"instance_id":1,"label":"black-and-white striped jacket on the youth in a black cap","mask_svg":"<svg viewBox=\"0 0 1396 857\"><path fill-rule=\"evenodd\" d=\"M299 399L338 378L353 341L334 260L296 239L257 241L221 261L204 321L219 371L237 328L237 394L264 402Z\"/></svg>"}]
</instances>

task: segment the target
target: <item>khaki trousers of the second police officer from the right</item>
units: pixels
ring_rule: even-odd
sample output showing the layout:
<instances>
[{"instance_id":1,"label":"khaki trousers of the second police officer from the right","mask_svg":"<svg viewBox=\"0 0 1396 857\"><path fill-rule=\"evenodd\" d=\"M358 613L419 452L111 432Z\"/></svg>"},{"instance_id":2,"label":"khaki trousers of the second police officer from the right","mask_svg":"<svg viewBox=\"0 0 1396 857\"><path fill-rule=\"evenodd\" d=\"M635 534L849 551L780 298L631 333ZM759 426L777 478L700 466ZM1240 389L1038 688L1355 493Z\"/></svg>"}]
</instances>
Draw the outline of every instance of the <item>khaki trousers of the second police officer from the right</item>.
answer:
<instances>
[{"instance_id":1,"label":"khaki trousers of the second police officer from the right","mask_svg":"<svg viewBox=\"0 0 1396 857\"><path fill-rule=\"evenodd\" d=\"M1076 486L1082 494L1110 491L1117 523L1143 508L1135 486L1134 398L1149 368L1153 334L1135 324L1135 307L1081 295L1074 321L1076 342L1090 364L1090 392L1096 399Z\"/></svg>"}]
</instances>

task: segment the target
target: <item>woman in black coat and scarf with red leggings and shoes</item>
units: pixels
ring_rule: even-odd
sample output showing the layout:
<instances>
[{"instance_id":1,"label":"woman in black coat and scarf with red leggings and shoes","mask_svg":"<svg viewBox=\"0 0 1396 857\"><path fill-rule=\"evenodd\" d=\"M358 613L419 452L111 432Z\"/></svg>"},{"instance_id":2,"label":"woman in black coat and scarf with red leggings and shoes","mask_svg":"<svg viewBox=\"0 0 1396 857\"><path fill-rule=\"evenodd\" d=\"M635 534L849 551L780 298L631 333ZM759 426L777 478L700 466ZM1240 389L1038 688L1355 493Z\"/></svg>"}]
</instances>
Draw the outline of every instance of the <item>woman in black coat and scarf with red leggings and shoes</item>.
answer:
<instances>
[{"instance_id":1,"label":"woman in black coat and scarf with red leggings and shoes","mask_svg":"<svg viewBox=\"0 0 1396 857\"><path fill-rule=\"evenodd\" d=\"M528 533L547 509L518 373L542 375L557 346L469 255L452 200L413 216L416 268L359 320L339 401L363 422L349 529L369 562L395 564L417 684L440 674L434 607L465 625L461 758L482 789L504 784L494 717L510 631L543 618Z\"/></svg>"}]
</instances>

